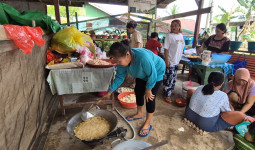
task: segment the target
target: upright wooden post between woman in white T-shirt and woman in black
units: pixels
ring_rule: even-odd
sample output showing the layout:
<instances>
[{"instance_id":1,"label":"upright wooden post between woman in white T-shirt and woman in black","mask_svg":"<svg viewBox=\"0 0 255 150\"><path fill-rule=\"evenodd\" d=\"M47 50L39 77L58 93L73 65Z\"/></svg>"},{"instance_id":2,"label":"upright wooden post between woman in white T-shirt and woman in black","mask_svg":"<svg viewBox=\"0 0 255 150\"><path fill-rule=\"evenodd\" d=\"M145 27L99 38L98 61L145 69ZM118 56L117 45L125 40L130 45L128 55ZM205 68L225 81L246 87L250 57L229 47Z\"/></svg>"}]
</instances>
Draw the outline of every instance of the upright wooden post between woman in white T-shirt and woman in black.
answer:
<instances>
[{"instance_id":1,"label":"upright wooden post between woman in white T-shirt and woman in black","mask_svg":"<svg viewBox=\"0 0 255 150\"><path fill-rule=\"evenodd\" d=\"M198 13L197 13L197 20L196 20L196 25L195 25L194 40L193 40L192 48L195 48L197 45L201 16L202 16L202 14L199 13L199 10L202 9L203 5L204 5L204 0L200 0L199 5L198 5Z\"/></svg>"}]
</instances>

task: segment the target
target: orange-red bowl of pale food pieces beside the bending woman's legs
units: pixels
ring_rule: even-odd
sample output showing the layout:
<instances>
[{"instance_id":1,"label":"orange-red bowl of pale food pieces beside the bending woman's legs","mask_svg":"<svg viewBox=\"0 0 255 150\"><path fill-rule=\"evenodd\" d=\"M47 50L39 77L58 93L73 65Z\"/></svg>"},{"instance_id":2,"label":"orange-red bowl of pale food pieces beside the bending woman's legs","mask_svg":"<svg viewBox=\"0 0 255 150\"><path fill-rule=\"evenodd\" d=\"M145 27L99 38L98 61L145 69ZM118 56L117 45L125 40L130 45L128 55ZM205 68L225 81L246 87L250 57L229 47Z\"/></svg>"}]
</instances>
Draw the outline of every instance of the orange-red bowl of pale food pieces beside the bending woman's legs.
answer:
<instances>
[{"instance_id":1,"label":"orange-red bowl of pale food pieces beside the bending woman's legs","mask_svg":"<svg viewBox=\"0 0 255 150\"><path fill-rule=\"evenodd\" d=\"M118 95L118 100L124 108L136 108L135 92L124 92Z\"/></svg>"}]
</instances>

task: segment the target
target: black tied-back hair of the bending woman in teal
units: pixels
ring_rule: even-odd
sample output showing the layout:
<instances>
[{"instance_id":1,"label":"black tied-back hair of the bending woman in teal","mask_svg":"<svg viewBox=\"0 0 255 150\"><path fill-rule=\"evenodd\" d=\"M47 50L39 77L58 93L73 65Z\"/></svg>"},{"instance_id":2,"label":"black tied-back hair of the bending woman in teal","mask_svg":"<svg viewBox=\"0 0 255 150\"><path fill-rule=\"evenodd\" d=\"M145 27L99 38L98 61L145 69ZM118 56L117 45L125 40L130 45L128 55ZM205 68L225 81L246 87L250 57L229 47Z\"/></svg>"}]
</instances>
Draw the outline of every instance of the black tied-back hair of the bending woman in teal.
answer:
<instances>
[{"instance_id":1,"label":"black tied-back hair of the bending woman in teal","mask_svg":"<svg viewBox=\"0 0 255 150\"><path fill-rule=\"evenodd\" d=\"M120 58L120 57L126 56L127 52L131 54L131 48L129 46L128 40L115 42L110 47L110 50L108 52L108 57Z\"/></svg>"}]
</instances>

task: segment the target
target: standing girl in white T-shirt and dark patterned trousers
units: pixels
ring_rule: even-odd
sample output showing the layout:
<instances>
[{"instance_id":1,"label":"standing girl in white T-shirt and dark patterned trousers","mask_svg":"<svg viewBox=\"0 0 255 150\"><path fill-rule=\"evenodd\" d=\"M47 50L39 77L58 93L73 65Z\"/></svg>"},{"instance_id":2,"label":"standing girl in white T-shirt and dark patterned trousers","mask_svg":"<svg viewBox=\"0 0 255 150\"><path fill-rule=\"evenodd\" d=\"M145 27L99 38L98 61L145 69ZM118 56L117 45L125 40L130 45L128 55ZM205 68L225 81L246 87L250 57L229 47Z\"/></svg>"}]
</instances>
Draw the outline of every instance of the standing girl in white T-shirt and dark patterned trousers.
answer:
<instances>
[{"instance_id":1,"label":"standing girl in white T-shirt and dark patterned trousers","mask_svg":"<svg viewBox=\"0 0 255 150\"><path fill-rule=\"evenodd\" d=\"M174 90L178 64L182 58L182 51L184 48L184 40L181 33L181 21L173 20L171 23L171 33L166 35L164 42L166 73L163 79L163 92L164 99L168 103L172 103L170 97Z\"/></svg>"}]
</instances>

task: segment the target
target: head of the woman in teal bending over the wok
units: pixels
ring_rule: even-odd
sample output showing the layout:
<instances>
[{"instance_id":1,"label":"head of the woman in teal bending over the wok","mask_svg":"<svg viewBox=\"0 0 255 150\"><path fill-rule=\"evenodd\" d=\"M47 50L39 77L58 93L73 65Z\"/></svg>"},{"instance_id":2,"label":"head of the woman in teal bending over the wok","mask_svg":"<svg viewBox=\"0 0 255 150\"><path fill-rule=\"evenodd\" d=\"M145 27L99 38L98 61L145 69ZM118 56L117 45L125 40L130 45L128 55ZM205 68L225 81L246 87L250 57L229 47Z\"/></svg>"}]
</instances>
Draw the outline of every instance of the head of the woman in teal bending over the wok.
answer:
<instances>
[{"instance_id":1,"label":"head of the woman in teal bending over the wok","mask_svg":"<svg viewBox=\"0 0 255 150\"><path fill-rule=\"evenodd\" d=\"M116 60L121 66L128 66L131 61L131 48L128 40L115 42L111 45L108 56Z\"/></svg>"}]
</instances>

